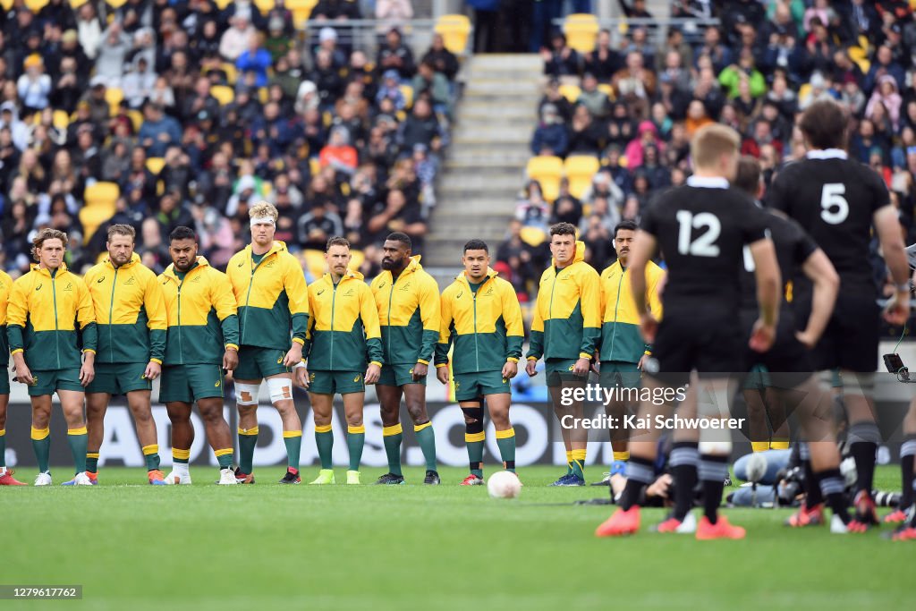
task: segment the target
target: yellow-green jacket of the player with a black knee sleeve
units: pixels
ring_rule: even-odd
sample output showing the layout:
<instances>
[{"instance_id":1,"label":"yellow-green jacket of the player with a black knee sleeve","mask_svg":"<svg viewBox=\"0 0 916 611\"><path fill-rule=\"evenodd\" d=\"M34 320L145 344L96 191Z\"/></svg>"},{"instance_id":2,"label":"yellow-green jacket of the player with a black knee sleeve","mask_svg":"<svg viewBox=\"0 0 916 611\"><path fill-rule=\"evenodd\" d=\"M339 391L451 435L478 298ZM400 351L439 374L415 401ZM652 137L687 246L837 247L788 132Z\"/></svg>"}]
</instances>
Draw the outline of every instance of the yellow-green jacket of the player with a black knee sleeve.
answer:
<instances>
[{"instance_id":1,"label":"yellow-green jacket of the player with a black knee sleeve","mask_svg":"<svg viewBox=\"0 0 916 611\"><path fill-rule=\"evenodd\" d=\"M442 291L442 317L436 366L447 366L449 346L454 343L452 371L468 374L501 371L507 361L518 363L525 328L515 289L493 269L477 287L465 272Z\"/></svg>"}]
</instances>

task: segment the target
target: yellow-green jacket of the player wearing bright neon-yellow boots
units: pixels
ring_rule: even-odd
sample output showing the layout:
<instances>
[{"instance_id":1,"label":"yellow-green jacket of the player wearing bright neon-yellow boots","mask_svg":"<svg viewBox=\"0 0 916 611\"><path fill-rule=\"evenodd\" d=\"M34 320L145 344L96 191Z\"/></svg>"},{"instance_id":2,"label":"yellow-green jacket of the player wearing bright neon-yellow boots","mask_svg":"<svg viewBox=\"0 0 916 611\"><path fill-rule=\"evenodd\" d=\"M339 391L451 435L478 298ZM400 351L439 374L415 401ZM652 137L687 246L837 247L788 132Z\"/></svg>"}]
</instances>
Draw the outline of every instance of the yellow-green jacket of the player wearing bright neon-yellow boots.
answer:
<instances>
[{"instance_id":1,"label":"yellow-green jacket of the player wearing bright neon-yellow boots","mask_svg":"<svg viewBox=\"0 0 916 611\"><path fill-rule=\"evenodd\" d=\"M309 287L309 341L302 353L309 369L360 371L381 366L382 334L369 285L358 271L347 270L336 285L327 273Z\"/></svg>"}]
</instances>

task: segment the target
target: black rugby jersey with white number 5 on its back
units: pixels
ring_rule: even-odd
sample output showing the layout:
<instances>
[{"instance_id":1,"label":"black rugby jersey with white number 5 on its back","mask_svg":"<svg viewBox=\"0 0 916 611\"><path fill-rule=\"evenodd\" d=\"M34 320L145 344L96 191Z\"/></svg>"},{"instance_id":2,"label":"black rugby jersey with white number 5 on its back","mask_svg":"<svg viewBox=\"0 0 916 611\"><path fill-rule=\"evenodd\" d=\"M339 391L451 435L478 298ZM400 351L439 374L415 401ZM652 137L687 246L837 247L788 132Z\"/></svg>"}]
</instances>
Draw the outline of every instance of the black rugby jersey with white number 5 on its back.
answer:
<instances>
[{"instance_id":1,"label":"black rugby jersey with white number 5 on its back","mask_svg":"<svg viewBox=\"0 0 916 611\"><path fill-rule=\"evenodd\" d=\"M881 177L837 149L812 151L782 169L767 192L770 207L802 225L840 275L844 293L877 294L868 263L872 217L890 202Z\"/></svg>"}]
</instances>

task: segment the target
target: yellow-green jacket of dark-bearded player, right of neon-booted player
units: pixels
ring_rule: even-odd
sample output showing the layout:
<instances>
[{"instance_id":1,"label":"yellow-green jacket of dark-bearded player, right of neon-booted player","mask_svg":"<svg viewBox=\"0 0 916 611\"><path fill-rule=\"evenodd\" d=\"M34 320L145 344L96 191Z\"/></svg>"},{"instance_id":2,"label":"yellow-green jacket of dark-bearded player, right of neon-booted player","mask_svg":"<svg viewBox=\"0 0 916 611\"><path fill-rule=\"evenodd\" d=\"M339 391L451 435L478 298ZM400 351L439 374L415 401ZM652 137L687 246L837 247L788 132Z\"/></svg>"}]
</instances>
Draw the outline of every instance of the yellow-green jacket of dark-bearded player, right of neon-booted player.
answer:
<instances>
[{"instance_id":1,"label":"yellow-green jacket of dark-bearded player, right of neon-booted player","mask_svg":"<svg viewBox=\"0 0 916 611\"><path fill-rule=\"evenodd\" d=\"M439 341L439 285L423 271L420 255L410 257L408 267L396 280L384 270L371 286L385 364L429 365Z\"/></svg>"}]
</instances>

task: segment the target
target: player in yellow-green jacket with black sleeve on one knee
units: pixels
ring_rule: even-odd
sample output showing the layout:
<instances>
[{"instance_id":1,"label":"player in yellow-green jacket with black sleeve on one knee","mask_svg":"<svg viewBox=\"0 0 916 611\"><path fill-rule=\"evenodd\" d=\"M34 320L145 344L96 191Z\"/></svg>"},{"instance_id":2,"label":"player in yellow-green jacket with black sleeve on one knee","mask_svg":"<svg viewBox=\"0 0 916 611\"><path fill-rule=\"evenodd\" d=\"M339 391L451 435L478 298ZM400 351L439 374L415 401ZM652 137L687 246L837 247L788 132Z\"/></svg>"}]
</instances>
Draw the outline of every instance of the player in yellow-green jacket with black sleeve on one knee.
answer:
<instances>
[{"instance_id":1,"label":"player in yellow-green jacket with black sleeve on one knee","mask_svg":"<svg viewBox=\"0 0 916 611\"><path fill-rule=\"evenodd\" d=\"M483 240L464 245L464 271L442 291L442 319L436 344L436 376L449 383L449 347L455 399L464 412L464 442L471 475L461 486L484 484L484 398L496 429L503 468L515 473L515 430L509 421L525 328L515 289L490 268Z\"/></svg>"}]
</instances>

